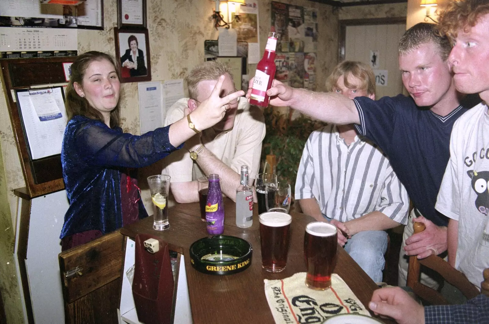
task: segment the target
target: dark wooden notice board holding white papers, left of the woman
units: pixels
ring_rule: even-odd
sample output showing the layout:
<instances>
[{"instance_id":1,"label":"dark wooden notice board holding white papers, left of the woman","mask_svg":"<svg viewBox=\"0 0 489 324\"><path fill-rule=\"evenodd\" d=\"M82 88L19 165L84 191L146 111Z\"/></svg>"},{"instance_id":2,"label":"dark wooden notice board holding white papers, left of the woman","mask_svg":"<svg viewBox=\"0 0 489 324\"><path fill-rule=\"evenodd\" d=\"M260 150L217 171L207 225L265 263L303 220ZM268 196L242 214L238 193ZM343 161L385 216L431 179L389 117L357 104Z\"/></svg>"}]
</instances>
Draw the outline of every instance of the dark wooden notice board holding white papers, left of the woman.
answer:
<instances>
[{"instance_id":1,"label":"dark wooden notice board holding white papers, left of the woman","mask_svg":"<svg viewBox=\"0 0 489 324\"><path fill-rule=\"evenodd\" d=\"M0 59L7 108L31 198L64 189L64 63L75 57Z\"/></svg>"}]
</instances>

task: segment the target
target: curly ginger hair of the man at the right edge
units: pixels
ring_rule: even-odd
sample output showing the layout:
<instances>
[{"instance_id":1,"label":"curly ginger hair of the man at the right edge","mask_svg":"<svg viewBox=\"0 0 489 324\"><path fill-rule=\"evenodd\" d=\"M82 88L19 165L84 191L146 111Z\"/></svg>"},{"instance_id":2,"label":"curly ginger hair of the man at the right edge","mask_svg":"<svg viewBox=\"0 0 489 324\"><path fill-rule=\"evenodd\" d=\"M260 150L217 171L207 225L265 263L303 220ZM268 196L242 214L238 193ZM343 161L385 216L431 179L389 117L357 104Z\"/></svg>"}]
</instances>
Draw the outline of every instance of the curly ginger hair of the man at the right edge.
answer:
<instances>
[{"instance_id":1,"label":"curly ginger hair of the man at the right edge","mask_svg":"<svg viewBox=\"0 0 489 324\"><path fill-rule=\"evenodd\" d=\"M452 41L458 30L468 31L477 24L477 20L489 13L489 0L449 1L438 19L440 33Z\"/></svg>"}]
</instances>

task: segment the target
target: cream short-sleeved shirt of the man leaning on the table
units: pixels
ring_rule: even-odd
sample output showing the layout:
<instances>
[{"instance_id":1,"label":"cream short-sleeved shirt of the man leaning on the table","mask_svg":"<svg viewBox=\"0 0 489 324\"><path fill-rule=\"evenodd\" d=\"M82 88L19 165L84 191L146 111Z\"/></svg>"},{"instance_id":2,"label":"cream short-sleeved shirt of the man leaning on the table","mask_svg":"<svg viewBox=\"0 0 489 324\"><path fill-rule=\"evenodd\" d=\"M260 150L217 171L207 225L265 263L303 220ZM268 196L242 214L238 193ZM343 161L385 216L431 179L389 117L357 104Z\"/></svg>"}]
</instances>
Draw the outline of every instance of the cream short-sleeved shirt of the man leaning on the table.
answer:
<instances>
[{"instance_id":1,"label":"cream short-sleeved shirt of the man leaning on the table","mask_svg":"<svg viewBox=\"0 0 489 324\"><path fill-rule=\"evenodd\" d=\"M178 100L166 113L164 125L170 125L183 117L189 98ZM242 165L249 167L250 182L260 167L262 141L265 138L265 119L262 111L250 106L246 98L240 97L234 126L230 131L216 136L214 129L202 131L202 143L219 160L235 172L240 173ZM190 158L187 150L173 152L163 159L163 174L171 177L172 183L189 182L204 176L197 162Z\"/></svg>"}]
</instances>

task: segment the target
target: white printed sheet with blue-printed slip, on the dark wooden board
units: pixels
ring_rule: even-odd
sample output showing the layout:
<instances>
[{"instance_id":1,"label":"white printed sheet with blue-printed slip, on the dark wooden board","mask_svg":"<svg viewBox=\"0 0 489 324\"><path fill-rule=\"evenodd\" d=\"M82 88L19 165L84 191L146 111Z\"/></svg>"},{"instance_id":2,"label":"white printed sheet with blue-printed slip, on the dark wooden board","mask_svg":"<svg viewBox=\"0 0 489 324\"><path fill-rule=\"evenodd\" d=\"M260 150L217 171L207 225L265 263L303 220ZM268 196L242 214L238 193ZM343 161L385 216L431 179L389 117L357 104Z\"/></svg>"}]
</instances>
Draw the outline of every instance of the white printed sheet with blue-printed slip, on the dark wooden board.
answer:
<instances>
[{"instance_id":1,"label":"white printed sheet with blue-printed slip, on the dark wooden board","mask_svg":"<svg viewBox=\"0 0 489 324\"><path fill-rule=\"evenodd\" d=\"M61 153L67 118L62 87L17 91L32 160Z\"/></svg>"}]
</instances>

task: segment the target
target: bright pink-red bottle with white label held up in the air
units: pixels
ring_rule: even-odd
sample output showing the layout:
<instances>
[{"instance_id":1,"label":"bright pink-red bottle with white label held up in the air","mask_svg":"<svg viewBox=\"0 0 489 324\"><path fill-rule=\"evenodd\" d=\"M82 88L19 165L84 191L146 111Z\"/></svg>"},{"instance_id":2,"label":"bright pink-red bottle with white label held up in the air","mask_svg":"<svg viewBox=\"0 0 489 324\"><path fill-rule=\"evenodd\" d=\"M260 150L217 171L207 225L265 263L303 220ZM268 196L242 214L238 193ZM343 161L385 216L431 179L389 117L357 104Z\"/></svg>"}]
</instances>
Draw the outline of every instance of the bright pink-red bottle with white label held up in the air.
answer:
<instances>
[{"instance_id":1,"label":"bright pink-red bottle with white label held up in the air","mask_svg":"<svg viewBox=\"0 0 489 324\"><path fill-rule=\"evenodd\" d=\"M268 34L267 46L263 58L256 66L255 78L249 103L258 107L267 107L270 98L267 90L272 87L273 78L275 77L275 48L277 47L277 33Z\"/></svg>"}]
</instances>

